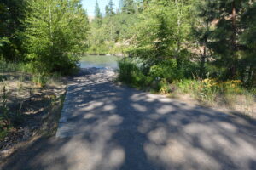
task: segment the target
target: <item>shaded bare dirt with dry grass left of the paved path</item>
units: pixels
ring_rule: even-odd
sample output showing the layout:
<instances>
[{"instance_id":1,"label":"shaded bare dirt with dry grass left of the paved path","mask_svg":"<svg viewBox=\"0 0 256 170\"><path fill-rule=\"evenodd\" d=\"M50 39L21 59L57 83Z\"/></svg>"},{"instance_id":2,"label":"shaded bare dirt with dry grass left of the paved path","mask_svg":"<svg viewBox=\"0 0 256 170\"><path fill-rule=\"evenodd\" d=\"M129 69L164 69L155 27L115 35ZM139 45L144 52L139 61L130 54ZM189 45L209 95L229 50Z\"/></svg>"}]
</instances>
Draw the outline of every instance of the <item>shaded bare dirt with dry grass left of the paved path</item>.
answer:
<instances>
[{"instance_id":1,"label":"shaded bare dirt with dry grass left of the paved path","mask_svg":"<svg viewBox=\"0 0 256 170\"><path fill-rule=\"evenodd\" d=\"M44 122L53 106L60 104L65 93L61 82L49 82L44 88L32 82L32 75L19 71L0 71L5 77L0 82L0 159L9 155L20 143L41 133ZM5 95L3 95L5 87ZM8 118L3 116L3 99L6 99ZM38 132L39 131L39 132ZM1 161L0 161L1 163Z\"/></svg>"}]
</instances>

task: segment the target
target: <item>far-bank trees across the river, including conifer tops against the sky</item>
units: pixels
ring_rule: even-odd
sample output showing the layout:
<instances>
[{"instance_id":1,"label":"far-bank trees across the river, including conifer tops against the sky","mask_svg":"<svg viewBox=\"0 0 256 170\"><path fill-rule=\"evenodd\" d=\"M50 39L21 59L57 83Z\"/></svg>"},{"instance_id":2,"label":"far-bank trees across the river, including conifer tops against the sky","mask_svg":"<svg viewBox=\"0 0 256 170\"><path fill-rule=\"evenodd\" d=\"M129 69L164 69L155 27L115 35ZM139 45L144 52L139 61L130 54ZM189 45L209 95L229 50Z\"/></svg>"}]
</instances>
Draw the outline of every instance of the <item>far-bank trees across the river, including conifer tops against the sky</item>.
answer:
<instances>
[{"instance_id":1,"label":"far-bank trees across the river, including conifer tops against the sky","mask_svg":"<svg viewBox=\"0 0 256 170\"><path fill-rule=\"evenodd\" d=\"M87 41L87 54L125 54L134 35L133 26L137 24L137 1L120 1L119 8L110 0L101 12L96 3L95 17L90 22L90 37Z\"/></svg>"}]
</instances>

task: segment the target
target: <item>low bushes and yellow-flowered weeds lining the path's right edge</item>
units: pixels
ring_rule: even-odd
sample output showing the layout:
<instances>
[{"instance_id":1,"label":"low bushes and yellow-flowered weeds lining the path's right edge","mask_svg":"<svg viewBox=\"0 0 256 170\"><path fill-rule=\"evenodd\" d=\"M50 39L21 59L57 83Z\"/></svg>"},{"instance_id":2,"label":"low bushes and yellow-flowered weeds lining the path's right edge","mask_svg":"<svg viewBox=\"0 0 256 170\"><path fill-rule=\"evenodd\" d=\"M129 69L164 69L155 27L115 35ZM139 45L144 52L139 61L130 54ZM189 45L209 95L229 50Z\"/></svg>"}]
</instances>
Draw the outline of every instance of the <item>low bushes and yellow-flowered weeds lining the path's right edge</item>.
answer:
<instances>
[{"instance_id":1,"label":"low bushes and yellow-flowered weeds lining the path's right edge","mask_svg":"<svg viewBox=\"0 0 256 170\"><path fill-rule=\"evenodd\" d=\"M125 82L134 88L147 90L149 88L150 91L161 94L172 92L190 94L194 99L207 105L213 105L221 101L231 107L232 105L240 105L237 102L242 103L241 99L243 99L246 100L241 104L244 109L239 111L247 112L248 115L253 114L252 105L256 94L255 90L243 88L240 80L223 82L218 78L195 79L197 65L191 62L184 65L192 66L179 69L176 60L169 59L149 67L148 74L147 72L145 74L142 62L137 59L126 58L119 61L119 81ZM191 71L190 75L189 71ZM193 75L194 78L187 78L187 76L193 77Z\"/></svg>"}]
</instances>

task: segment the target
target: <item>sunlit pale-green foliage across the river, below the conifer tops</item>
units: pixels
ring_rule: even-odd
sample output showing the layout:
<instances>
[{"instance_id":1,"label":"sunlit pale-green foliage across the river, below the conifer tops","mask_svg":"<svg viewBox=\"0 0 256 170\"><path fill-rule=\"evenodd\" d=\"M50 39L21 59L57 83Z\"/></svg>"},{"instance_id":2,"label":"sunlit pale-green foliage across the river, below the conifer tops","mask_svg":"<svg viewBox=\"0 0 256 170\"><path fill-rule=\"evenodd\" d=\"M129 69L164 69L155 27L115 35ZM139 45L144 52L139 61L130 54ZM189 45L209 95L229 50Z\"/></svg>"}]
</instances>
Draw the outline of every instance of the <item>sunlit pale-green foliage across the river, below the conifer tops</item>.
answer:
<instances>
[{"instance_id":1,"label":"sunlit pale-green foliage across the river, below the conifer tops","mask_svg":"<svg viewBox=\"0 0 256 170\"><path fill-rule=\"evenodd\" d=\"M125 41L132 37L131 26L137 22L136 15L118 13L108 15L98 23L90 23L88 54L124 54Z\"/></svg>"}]
</instances>

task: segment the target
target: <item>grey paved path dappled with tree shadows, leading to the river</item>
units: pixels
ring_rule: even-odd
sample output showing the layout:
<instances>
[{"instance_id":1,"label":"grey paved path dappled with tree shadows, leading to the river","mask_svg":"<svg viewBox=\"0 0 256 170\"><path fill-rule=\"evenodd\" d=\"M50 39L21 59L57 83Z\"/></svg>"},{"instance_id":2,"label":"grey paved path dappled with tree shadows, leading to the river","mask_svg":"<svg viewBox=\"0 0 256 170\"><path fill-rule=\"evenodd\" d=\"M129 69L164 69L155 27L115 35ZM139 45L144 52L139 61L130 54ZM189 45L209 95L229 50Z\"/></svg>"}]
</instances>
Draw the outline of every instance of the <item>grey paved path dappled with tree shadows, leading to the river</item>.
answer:
<instances>
[{"instance_id":1,"label":"grey paved path dappled with tree shadows, leading to the river","mask_svg":"<svg viewBox=\"0 0 256 170\"><path fill-rule=\"evenodd\" d=\"M57 138L30 144L3 169L256 169L256 122L116 86L111 77L74 78Z\"/></svg>"}]
</instances>

